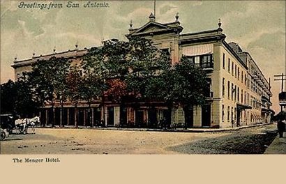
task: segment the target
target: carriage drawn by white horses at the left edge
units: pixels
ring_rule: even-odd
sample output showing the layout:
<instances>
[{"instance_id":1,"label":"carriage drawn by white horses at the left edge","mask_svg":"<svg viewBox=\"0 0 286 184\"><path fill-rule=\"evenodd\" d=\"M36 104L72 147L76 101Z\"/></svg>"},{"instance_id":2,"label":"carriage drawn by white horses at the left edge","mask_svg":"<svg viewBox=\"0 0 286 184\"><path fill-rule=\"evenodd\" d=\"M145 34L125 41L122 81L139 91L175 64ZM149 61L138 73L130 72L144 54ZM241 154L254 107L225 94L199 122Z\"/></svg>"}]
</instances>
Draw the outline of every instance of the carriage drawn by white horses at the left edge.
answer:
<instances>
[{"instance_id":1,"label":"carriage drawn by white horses at the left edge","mask_svg":"<svg viewBox=\"0 0 286 184\"><path fill-rule=\"evenodd\" d=\"M35 116L33 118L20 118L20 116L15 114L0 114L1 121L1 136L12 134L13 130L20 132L21 134L26 134L28 128L31 127L32 131L35 132L36 124L40 123L40 118ZM5 137L3 138L5 139Z\"/></svg>"}]
</instances>

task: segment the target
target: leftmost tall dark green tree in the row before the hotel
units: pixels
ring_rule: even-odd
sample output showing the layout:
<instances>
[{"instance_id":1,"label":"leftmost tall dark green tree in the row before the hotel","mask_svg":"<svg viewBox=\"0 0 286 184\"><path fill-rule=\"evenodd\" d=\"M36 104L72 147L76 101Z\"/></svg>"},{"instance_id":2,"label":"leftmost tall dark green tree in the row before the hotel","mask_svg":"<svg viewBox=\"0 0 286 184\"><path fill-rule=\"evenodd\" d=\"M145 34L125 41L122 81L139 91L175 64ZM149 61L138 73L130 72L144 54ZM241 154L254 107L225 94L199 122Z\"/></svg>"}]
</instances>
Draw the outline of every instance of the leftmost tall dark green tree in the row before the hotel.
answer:
<instances>
[{"instance_id":1,"label":"leftmost tall dark green tree in the row before the hotel","mask_svg":"<svg viewBox=\"0 0 286 184\"><path fill-rule=\"evenodd\" d=\"M68 59L52 56L48 60L34 63L32 72L29 73L28 79L38 101L51 105L53 112L52 126L54 126L56 120L54 109L56 100L59 100L61 104L61 112L63 102L66 100L66 77L69 68L70 61Z\"/></svg>"}]
</instances>

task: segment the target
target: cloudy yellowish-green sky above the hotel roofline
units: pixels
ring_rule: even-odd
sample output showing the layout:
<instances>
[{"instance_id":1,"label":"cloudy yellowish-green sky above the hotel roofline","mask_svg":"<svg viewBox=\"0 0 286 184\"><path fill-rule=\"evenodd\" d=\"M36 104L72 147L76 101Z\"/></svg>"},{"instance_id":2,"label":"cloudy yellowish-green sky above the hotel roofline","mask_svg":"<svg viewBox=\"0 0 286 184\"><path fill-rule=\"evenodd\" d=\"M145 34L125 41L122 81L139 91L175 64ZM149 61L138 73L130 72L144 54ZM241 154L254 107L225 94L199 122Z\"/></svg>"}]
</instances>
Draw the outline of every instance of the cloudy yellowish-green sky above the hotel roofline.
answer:
<instances>
[{"instance_id":1,"label":"cloudy yellowish-green sky above the hotel roofline","mask_svg":"<svg viewBox=\"0 0 286 184\"><path fill-rule=\"evenodd\" d=\"M62 8L20 8L20 3L62 3ZM67 8L68 1L1 0L1 84L13 79L15 56L29 59L32 53L50 54L98 46L103 40L126 40L130 20L133 28L149 21L153 1L91 1L108 3L106 8L84 8L88 1L73 1L78 8ZM250 53L266 79L271 78L272 109L280 110L281 82L273 75L286 73L285 1L156 1L156 22L174 22L179 13L183 33L218 28L222 22L226 41L239 43ZM286 82L285 82L286 84ZM285 85L286 89L286 85Z\"/></svg>"}]
</instances>

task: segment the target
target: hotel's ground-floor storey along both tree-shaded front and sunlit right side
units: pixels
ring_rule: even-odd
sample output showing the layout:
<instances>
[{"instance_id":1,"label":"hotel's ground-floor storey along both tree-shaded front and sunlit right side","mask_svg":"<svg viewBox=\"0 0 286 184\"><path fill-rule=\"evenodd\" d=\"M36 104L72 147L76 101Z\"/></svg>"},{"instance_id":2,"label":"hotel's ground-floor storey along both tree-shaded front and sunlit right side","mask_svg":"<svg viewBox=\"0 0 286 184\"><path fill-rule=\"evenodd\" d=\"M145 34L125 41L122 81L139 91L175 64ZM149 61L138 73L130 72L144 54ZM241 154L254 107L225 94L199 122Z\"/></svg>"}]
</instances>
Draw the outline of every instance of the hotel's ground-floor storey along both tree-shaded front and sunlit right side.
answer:
<instances>
[{"instance_id":1,"label":"hotel's ground-floor storey along both tree-shaded front and sunlit right side","mask_svg":"<svg viewBox=\"0 0 286 184\"><path fill-rule=\"evenodd\" d=\"M270 114L255 116L250 109L232 114L202 107L55 107L40 110L41 126L86 126L123 128L227 128L255 123L269 123ZM258 114L258 112L256 112ZM222 115L222 116L220 116ZM225 118L223 118L225 116ZM228 117L229 116L229 117ZM226 118L227 117L227 118ZM224 121L225 120L225 121Z\"/></svg>"}]
</instances>

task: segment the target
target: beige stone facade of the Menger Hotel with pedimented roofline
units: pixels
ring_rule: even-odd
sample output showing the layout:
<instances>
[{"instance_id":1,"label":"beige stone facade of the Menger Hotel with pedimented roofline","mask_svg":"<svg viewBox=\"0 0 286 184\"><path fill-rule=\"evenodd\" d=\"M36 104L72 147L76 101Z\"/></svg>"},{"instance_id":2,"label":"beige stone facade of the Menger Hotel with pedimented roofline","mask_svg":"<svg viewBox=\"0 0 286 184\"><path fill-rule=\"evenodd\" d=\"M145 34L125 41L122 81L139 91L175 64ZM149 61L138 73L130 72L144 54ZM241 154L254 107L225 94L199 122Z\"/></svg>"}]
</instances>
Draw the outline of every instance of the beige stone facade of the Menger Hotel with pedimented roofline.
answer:
<instances>
[{"instance_id":1,"label":"beige stone facade of the Menger Hotel with pedimented roofline","mask_svg":"<svg viewBox=\"0 0 286 184\"><path fill-rule=\"evenodd\" d=\"M226 43L223 29L220 28L197 33L181 33L179 17L174 22L161 24L156 22L155 17L150 15L149 22L140 28L134 29L130 24L127 38L142 36L153 40L153 44L159 49L169 52L172 63L180 61L181 57L188 58L194 65L199 65L206 70L210 86L207 95L208 102L202 107L193 107L189 112L188 127L194 128L229 128L241 125L270 122L270 84L265 79L254 59L248 52L243 52L236 43ZM46 56L33 56L32 59L15 60L15 79L19 78L24 71L31 70L31 63L51 56L64 56L80 62L88 49L69 50L67 52L53 53ZM82 108L86 107L82 103ZM70 113L73 105L66 105L66 125L73 121ZM150 118L156 116L156 120L170 116L171 125L185 123L183 109L176 107L170 112L163 105L156 105L155 109L149 109L141 105L139 109L126 107L124 115L120 114L120 107L112 102L107 102L106 107L98 108L93 104L92 125L105 116L105 125L116 125L123 118L126 123L136 124L140 121L148 124ZM97 113L96 113L97 112ZM73 112L74 113L74 112ZM82 115L86 122L86 110ZM100 116L100 117L98 117ZM47 121L48 112L45 112ZM141 122L141 123L142 123ZM83 123L82 125L86 125Z\"/></svg>"}]
</instances>

